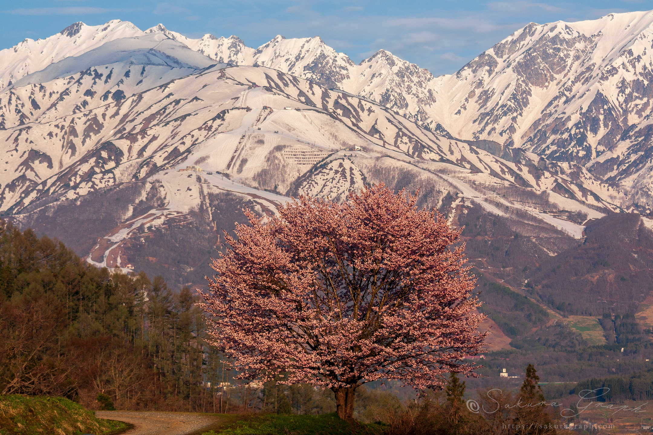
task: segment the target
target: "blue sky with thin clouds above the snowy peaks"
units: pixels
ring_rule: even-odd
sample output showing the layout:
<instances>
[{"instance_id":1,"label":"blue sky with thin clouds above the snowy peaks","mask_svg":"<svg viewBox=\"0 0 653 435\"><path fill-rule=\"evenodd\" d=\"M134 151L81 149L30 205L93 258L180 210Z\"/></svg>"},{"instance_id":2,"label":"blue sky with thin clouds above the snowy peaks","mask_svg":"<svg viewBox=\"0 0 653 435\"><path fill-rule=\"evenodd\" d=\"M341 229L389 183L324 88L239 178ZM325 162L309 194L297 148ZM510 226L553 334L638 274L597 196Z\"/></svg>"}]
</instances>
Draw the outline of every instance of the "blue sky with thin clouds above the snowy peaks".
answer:
<instances>
[{"instance_id":1,"label":"blue sky with thin clouds above the snowy peaks","mask_svg":"<svg viewBox=\"0 0 653 435\"><path fill-rule=\"evenodd\" d=\"M653 9L652 1L643 0L3 0L0 5L0 48L46 38L78 21L99 25L119 19L141 29L163 23L187 37L236 35L253 47L276 35L319 35L357 63L383 48L436 76L455 72L529 22Z\"/></svg>"}]
</instances>

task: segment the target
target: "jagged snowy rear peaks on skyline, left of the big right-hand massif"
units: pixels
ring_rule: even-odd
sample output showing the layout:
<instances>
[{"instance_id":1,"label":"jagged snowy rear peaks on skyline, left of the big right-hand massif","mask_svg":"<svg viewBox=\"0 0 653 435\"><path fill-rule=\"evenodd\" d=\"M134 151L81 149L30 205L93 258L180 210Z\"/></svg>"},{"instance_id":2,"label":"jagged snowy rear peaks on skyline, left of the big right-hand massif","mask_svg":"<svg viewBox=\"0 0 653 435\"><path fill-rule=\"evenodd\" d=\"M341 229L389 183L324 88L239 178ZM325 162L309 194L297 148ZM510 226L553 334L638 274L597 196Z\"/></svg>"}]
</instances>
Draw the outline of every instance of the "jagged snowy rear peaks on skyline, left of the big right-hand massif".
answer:
<instances>
[{"instance_id":1,"label":"jagged snowy rear peaks on skyline, left of the big right-hand massif","mask_svg":"<svg viewBox=\"0 0 653 435\"><path fill-rule=\"evenodd\" d=\"M356 65L344 53L327 46L320 37L286 39L278 35L259 48L249 48L238 37L204 35L191 39L162 24L141 31L132 23L120 20L99 26L78 22L52 37L25 39L12 48L1 50L0 89L65 57L76 57L111 40L142 37L148 33L162 33L217 63L274 68L330 89L370 98L436 131L441 129L429 115L428 108L434 104L436 96L434 77L428 70L386 50Z\"/></svg>"}]
</instances>

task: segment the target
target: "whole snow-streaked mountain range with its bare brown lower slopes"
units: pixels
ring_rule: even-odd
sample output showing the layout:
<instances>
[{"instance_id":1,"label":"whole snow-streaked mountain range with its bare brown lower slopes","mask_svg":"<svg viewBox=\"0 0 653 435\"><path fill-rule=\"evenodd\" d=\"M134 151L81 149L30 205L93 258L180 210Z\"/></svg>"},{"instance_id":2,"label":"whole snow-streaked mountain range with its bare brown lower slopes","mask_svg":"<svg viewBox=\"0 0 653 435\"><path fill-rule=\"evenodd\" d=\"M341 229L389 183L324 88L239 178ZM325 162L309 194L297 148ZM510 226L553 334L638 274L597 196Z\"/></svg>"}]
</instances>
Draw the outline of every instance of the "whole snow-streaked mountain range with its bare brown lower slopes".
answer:
<instances>
[{"instance_id":1,"label":"whole snow-streaked mountain range with its bare brown lower slopes","mask_svg":"<svg viewBox=\"0 0 653 435\"><path fill-rule=\"evenodd\" d=\"M439 78L384 50L355 65L319 37L249 48L76 23L0 52L0 214L182 286L212 273L243 207L383 182L464 226L477 270L524 285L594 220L653 209L652 16L530 24ZM596 307L585 279L573 303Z\"/></svg>"}]
</instances>

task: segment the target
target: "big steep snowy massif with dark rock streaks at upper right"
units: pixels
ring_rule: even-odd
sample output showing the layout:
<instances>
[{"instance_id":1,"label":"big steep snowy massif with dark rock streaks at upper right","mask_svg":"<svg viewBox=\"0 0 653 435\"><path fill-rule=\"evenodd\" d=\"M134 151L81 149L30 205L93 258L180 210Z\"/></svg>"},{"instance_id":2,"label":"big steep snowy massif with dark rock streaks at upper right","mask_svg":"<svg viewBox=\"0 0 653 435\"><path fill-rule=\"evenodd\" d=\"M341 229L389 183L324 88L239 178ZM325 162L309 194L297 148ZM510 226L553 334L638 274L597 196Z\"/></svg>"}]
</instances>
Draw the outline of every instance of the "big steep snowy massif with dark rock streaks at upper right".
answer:
<instances>
[{"instance_id":1,"label":"big steep snowy massif with dark rock streaks at upper right","mask_svg":"<svg viewBox=\"0 0 653 435\"><path fill-rule=\"evenodd\" d=\"M438 78L432 113L454 136L582 164L650 211L652 47L653 11L530 23Z\"/></svg>"}]
</instances>

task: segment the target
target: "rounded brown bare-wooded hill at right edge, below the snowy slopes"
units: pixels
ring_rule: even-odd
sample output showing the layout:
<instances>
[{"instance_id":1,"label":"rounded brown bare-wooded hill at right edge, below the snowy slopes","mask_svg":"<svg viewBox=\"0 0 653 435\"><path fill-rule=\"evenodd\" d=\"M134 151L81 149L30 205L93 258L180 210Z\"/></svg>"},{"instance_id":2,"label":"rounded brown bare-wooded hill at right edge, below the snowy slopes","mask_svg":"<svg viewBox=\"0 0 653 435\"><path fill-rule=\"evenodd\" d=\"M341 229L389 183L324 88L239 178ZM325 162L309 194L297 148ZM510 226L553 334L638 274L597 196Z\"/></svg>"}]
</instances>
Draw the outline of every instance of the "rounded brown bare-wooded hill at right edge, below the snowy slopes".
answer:
<instances>
[{"instance_id":1,"label":"rounded brown bare-wooded hill at right edge, below the snowy slopes","mask_svg":"<svg viewBox=\"0 0 653 435\"><path fill-rule=\"evenodd\" d=\"M565 315L634 314L653 290L653 233L641 222L633 213L590 222L582 243L532 269L529 293Z\"/></svg>"}]
</instances>

